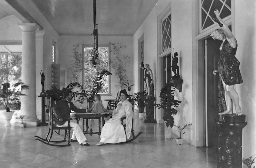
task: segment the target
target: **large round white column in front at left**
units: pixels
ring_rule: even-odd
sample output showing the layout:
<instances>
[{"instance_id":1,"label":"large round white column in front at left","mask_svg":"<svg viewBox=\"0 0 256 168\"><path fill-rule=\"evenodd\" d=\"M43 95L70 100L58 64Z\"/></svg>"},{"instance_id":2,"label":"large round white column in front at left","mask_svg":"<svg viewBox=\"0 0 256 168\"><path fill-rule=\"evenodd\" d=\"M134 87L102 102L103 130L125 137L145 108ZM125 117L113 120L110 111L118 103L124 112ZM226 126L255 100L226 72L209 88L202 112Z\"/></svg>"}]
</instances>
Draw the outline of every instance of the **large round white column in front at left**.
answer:
<instances>
[{"instance_id":1,"label":"large round white column in front at left","mask_svg":"<svg viewBox=\"0 0 256 168\"><path fill-rule=\"evenodd\" d=\"M26 115L24 122L27 127L36 127L39 120L36 116L36 24L19 23L22 29L22 71L21 81L29 86L22 90L27 96L21 97L20 114Z\"/></svg>"}]
</instances>

